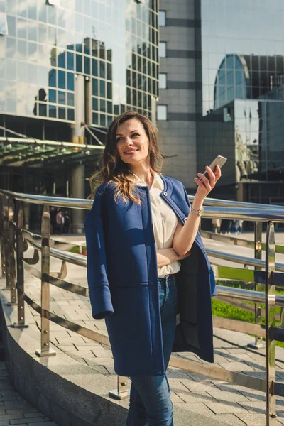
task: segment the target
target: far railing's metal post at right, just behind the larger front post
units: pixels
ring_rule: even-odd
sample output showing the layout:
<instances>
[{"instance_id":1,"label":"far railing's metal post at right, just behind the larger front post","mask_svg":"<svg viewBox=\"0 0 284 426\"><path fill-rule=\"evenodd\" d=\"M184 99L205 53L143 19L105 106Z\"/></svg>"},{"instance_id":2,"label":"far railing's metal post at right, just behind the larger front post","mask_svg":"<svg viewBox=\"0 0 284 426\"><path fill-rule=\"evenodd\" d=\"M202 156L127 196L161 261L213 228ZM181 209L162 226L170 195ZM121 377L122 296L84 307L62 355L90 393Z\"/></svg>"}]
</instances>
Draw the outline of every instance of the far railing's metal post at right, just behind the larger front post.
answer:
<instances>
[{"instance_id":1,"label":"far railing's metal post at right, just behind the larger front post","mask_svg":"<svg viewBox=\"0 0 284 426\"><path fill-rule=\"evenodd\" d=\"M262 250L261 250L261 244L262 244L262 222L254 222L254 258L255 259L261 259ZM256 271L261 271L261 266L255 266L254 269ZM254 284L254 290L256 291L262 291L264 290L265 286L263 284L255 283ZM255 322L256 324L261 324L261 305L258 303L255 303L254 305L254 312L255 312ZM263 342L262 337L256 336L255 342L249 343L249 347L253 349L262 349L266 347L265 342Z\"/></svg>"}]
</instances>

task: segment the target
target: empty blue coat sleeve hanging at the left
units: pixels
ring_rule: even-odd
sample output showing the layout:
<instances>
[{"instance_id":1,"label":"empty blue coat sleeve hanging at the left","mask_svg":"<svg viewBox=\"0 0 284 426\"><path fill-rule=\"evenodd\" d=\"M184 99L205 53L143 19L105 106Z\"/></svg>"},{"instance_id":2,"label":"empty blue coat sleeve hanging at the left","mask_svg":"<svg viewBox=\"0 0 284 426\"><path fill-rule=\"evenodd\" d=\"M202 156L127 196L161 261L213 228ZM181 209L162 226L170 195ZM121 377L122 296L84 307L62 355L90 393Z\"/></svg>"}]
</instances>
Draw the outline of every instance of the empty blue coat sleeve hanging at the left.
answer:
<instances>
[{"instance_id":1,"label":"empty blue coat sleeve hanging at the left","mask_svg":"<svg viewBox=\"0 0 284 426\"><path fill-rule=\"evenodd\" d=\"M92 317L101 319L114 313L107 278L107 256L105 251L102 194L97 192L92 209L84 221L87 241L87 280Z\"/></svg>"}]
</instances>

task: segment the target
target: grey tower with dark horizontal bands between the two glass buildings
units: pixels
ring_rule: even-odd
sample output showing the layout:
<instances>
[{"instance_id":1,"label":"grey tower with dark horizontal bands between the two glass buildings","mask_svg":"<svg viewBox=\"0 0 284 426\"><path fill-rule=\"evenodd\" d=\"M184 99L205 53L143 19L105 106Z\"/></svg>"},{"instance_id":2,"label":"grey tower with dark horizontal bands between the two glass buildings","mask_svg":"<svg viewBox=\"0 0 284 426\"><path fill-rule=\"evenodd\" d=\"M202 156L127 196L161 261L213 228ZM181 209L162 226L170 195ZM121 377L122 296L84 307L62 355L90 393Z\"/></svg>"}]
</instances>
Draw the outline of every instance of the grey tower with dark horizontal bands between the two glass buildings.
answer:
<instances>
[{"instance_id":1,"label":"grey tower with dark horizontal bands between the two glass buildings","mask_svg":"<svg viewBox=\"0 0 284 426\"><path fill-rule=\"evenodd\" d=\"M160 0L157 124L165 175L195 187L197 119L202 111L200 1Z\"/></svg>"}]
</instances>

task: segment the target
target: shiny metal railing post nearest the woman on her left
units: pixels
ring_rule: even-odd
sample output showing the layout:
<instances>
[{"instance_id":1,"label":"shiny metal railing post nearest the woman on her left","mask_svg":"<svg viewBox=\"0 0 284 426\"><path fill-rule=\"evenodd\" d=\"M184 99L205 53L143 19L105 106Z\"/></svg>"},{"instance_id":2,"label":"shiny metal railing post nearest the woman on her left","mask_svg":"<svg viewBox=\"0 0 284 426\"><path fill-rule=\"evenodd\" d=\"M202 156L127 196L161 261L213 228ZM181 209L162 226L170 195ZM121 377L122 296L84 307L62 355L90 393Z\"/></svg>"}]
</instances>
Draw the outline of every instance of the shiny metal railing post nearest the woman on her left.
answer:
<instances>
[{"instance_id":1,"label":"shiny metal railing post nearest the woman on her left","mask_svg":"<svg viewBox=\"0 0 284 426\"><path fill-rule=\"evenodd\" d=\"M35 351L35 354L38 356L50 356L56 355L56 352L50 348L49 320L45 318L45 312L49 311L50 305L49 283L46 281L50 273L50 213L47 205L43 207L41 237L41 347Z\"/></svg>"}]
</instances>

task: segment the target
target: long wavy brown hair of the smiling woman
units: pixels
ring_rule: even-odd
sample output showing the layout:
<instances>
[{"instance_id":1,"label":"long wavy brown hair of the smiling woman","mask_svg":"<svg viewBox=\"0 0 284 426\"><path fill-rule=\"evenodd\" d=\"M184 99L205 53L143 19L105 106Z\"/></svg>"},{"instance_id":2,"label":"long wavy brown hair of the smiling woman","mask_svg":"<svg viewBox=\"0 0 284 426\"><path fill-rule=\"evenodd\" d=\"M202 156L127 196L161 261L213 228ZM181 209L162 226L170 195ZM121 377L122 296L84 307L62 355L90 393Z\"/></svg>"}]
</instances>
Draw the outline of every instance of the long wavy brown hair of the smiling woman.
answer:
<instances>
[{"instance_id":1,"label":"long wavy brown hair of the smiling woman","mask_svg":"<svg viewBox=\"0 0 284 426\"><path fill-rule=\"evenodd\" d=\"M141 204L140 197L133 193L135 182L133 182L133 174L129 164L121 160L116 149L116 131L121 124L131 119L138 119L146 131L149 139L148 155L151 169L158 173L162 170L163 155L160 153L158 146L158 130L155 129L153 123L146 116L138 114L136 111L126 111L112 121L107 131L106 146L101 159L102 167L98 173L95 173L89 179L92 198L94 198L100 185L105 182L113 182L116 185L115 200L117 200L117 197L122 197L125 202L132 200L137 204Z\"/></svg>"}]
</instances>

